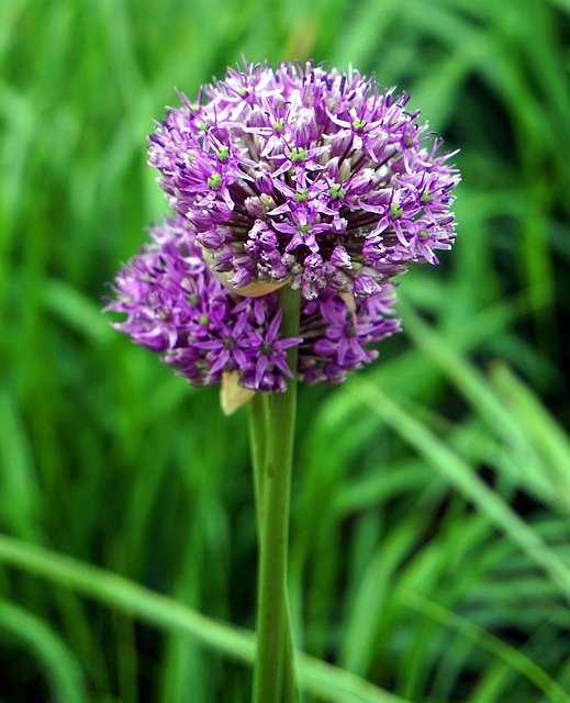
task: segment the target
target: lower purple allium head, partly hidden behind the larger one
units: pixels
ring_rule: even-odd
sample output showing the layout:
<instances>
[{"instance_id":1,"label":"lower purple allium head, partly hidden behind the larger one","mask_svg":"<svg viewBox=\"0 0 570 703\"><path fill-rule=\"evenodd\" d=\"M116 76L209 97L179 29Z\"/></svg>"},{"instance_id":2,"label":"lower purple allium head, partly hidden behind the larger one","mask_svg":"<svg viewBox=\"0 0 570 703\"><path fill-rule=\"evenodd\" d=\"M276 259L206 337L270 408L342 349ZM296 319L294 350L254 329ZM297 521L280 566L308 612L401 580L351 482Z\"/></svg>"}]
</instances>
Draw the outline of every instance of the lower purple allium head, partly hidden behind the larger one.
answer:
<instances>
[{"instance_id":1,"label":"lower purple allium head, partly hidden behind the larger one","mask_svg":"<svg viewBox=\"0 0 570 703\"><path fill-rule=\"evenodd\" d=\"M287 349L299 346L299 378L338 382L372 361L369 344L398 332L392 287L384 283L351 311L328 288L301 312L299 337L283 338L276 293L244 298L212 274L193 226L181 216L152 230L152 242L118 275L107 310L126 314L114 326L161 355L191 383L219 383L237 372L252 391L284 391Z\"/></svg>"}]
</instances>

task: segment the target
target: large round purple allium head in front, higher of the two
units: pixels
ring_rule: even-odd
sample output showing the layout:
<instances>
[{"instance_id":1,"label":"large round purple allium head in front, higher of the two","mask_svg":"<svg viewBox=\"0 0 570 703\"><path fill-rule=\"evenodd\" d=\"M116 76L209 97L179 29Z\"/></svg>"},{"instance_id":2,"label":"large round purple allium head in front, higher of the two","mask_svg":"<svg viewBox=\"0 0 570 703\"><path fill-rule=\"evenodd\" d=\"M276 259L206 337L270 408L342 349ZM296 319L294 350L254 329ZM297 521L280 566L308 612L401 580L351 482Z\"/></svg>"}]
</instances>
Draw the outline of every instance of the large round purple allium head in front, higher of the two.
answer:
<instances>
[{"instance_id":1,"label":"large round purple allium head in front, higher of the two","mask_svg":"<svg viewBox=\"0 0 570 703\"><path fill-rule=\"evenodd\" d=\"M284 283L306 300L383 294L455 238L458 172L407 100L311 63L230 69L195 102L181 96L149 163L209 265L243 294Z\"/></svg>"}]
</instances>

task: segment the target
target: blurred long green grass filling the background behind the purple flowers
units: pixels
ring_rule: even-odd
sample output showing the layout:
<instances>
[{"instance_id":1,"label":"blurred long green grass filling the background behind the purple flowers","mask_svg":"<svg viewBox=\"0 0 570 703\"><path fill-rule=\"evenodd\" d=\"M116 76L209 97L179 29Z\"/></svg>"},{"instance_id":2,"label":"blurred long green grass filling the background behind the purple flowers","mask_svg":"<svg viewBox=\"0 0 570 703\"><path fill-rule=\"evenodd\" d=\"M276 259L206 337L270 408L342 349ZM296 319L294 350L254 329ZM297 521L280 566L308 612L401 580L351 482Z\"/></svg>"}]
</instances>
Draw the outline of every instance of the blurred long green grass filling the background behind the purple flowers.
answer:
<instances>
[{"instance_id":1,"label":"blurred long green grass filling the background behind the purple flowers","mask_svg":"<svg viewBox=\"0 0 570 703\"><path fill-rule=\"evenodd\" d=\"M371 682L303 659L304 701L570 702L569 38L568 0L0 2L0 701L248 700L245 413L100 313L153 120L246 56L376 71L461 148L405 333L301 393L297 644Z\"/></svg>"}]
</instances>

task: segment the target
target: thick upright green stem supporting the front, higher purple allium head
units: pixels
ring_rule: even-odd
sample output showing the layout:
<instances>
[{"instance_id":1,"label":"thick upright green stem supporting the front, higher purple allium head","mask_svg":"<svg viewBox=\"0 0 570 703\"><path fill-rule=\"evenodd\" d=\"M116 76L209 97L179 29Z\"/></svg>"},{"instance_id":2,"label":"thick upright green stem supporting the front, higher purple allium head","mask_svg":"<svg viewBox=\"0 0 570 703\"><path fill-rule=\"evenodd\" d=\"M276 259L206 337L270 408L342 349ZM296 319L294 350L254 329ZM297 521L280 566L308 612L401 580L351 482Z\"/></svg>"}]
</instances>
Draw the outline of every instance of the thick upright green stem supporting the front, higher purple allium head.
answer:
<instances>
[{"instance_id":1,"label":"thick upright green stem supporting the front, higher purple allium head","mask_svg":"<svg viewBox=\"0 0 570 703\"><path fill-rule=\"evenodd\" d=\"M286 287L280 291L283 337L299 334L300 294ZM297 348L288 361L297 375ZM259 571L257 596L257 659L254 670L254 703L294 703L295 687L292 637L287 602L289 503L297 409L297 379L284 393L271 395L266 414L266 449L262 471L256 471L259 501ZM255 410L252 411L254 413ZM253 437L261 432L252 431Z\"/></svg>"}]
</instances>

